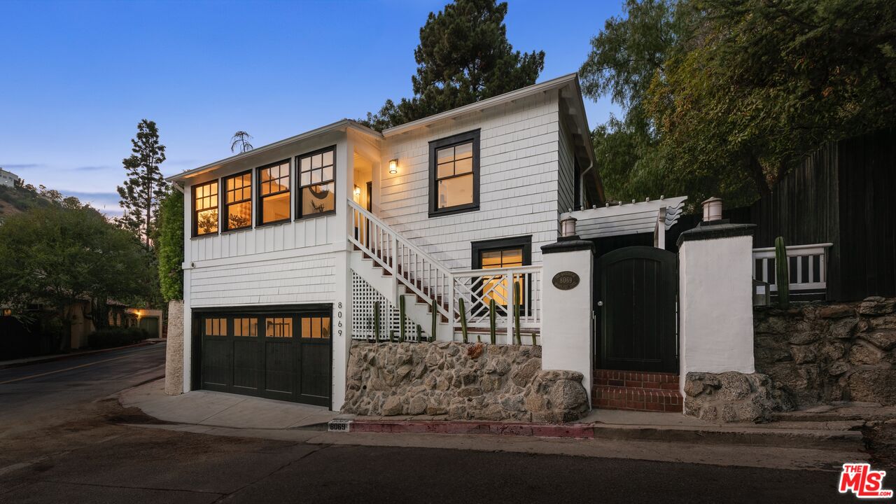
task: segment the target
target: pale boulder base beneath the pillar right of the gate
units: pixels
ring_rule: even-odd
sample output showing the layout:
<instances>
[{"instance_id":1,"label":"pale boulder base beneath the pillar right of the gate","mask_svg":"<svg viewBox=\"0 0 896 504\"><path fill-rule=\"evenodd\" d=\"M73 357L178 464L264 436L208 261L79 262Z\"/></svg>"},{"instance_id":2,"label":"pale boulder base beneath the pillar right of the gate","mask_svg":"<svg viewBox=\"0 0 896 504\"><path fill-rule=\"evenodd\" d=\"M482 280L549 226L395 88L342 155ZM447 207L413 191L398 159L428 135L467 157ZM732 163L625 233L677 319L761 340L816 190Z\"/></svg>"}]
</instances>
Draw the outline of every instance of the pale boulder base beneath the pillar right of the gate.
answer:
<instances>
[{"instance_id":1,"label":"pale boulder base beneath the pillar right of the gate","mask_svg":"<svg viewBox=\"0 0 896 504\"><path fill-rule=\"evenodd\" d=\"M685 414L704 421L771 421L771 413L792 410L781 386L760 373L687 373Z\"/></svg>"}]
</instances>

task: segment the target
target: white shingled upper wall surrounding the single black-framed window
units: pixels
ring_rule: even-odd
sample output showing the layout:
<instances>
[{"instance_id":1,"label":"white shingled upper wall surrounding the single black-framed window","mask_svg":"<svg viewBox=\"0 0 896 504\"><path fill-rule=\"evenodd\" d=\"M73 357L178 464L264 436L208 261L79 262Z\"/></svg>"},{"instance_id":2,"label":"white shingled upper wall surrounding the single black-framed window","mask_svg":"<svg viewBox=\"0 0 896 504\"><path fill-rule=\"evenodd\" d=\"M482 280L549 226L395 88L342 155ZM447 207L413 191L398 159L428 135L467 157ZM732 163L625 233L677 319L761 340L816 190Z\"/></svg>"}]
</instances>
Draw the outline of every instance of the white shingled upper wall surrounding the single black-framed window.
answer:
<instances>
[{"instance_id":1,"label":"white shingled upper wall surrounding the single black-framed window","mask_svg":"<svg viewBox=\"0 0 896 504\"><path fill-rule=\"evenodd\" d=\"M532 263L557 239L560 126L556 93L543 93L387 138L375 212L452 269L469 269L470 242L532 236ZM479 210L429 217L429 142L480 130Z\"/></svg>"}]
</instances>

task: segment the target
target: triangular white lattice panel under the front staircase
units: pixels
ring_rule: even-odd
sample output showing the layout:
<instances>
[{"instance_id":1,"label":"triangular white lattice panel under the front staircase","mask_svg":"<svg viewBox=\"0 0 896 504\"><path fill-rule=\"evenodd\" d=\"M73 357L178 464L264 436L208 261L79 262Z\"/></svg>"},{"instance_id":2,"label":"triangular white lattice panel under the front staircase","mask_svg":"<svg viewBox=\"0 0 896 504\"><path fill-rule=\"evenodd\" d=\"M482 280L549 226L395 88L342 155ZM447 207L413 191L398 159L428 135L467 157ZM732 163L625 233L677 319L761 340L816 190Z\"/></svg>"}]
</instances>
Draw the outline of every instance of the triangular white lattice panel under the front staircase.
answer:
<instances>
[{"instance_id":1,"label":"triangular white lattice panel under the front staircase","mask_svg":"<svg viewBox=\"0 0 896 504\"><path fill-rule=\"evenodd\" d=\"M401 335L401 316L399 308L385 296L377 292L373 286L367 283L354 271L351 272L351 337L356 340L375 339L374 330L374 306L380 306L380 341L388 341L390 331L393 332L395 341ZM405 339L410 342L426 341L428 334L410 321L405 320Z\"/></svg>"}]
</instances>

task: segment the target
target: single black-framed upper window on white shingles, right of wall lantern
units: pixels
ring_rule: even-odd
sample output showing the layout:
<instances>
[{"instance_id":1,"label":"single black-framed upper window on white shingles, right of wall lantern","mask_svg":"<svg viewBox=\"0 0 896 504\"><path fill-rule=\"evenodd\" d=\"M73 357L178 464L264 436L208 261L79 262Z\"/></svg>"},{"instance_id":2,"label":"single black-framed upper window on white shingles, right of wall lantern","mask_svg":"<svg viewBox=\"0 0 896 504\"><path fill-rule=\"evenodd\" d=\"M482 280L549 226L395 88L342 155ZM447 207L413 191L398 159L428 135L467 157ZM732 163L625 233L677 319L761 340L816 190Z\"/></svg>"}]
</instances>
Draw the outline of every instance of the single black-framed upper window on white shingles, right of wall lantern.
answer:
<instances>
[{"instance_id":1,"label":"single black-framed upper window on white shingles, right of wall lantern","mask_svg":"<svg viewBox=\"0 0 896 504\"><path fill-rule=\"evenodd\" d=\"M429 215L479 207L479 130L429 143Z\"/></svg>"}]
</instances>

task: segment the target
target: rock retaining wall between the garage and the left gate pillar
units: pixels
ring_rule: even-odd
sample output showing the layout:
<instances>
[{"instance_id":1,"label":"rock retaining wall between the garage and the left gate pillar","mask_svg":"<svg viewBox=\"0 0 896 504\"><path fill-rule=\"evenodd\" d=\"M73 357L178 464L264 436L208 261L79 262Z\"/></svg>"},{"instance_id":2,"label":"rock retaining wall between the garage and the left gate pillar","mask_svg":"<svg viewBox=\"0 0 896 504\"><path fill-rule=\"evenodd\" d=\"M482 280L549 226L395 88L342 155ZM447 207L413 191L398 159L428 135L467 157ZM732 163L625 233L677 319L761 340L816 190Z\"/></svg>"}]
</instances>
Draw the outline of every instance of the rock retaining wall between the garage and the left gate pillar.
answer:
<instances>
[{"instance_id":1,"label":"rock retaining wall between the garage and the left gate pillar","mask_svg":"<svg viewBox=\"0 0 896 504\"><path fill-rule=\"evenodd\" d=\"M541 347L352 342L342 413L560 423L588 412L582 373L541 369Z\"/></svg>"}]
</instances>

